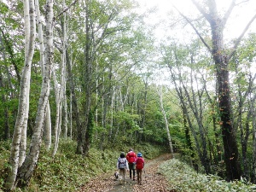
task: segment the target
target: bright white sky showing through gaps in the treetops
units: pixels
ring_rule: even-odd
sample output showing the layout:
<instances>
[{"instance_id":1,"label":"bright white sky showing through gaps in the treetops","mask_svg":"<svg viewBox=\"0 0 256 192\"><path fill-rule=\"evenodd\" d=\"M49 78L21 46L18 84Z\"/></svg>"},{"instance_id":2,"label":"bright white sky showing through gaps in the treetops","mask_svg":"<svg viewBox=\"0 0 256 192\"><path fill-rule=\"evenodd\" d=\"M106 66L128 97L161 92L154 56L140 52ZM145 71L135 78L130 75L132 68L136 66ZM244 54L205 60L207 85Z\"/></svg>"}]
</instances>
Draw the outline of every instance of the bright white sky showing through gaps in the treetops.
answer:
<instances>
[{"instance_id":1,"label":"bright white sky showing through gaps in the treetops","mask_svg":"<svg viewBox=\"0 0 256 192\"><path fill-rule=\"evenodd\" d=\"M148 25L154 25L154 35L159 41L167 41L168 38L175 38L180 44L187 44L192 39L198 38L195 31L189 24L184 24L181 22L181 17L178 15L177 10L173 8L173 5L189 17L189 19L198 19L200 16L199 11L195 8L195 5L191 0L137 0L141 8L141 12L145 12L150 9L150 14L148 14L145 22ZM197 0L203 2L202 0ZM218 10L220 13L225 13L229 8L232 0L216 0ZM233 9L230 19L224 29L224 39L225 44L228 44L231 39L238 38L241 32L256 14L256 0L236 0L236 8ZM223 15L221 15L223 16ZM181 23L181 24L177 24ZM208 30L208 26L201 26L201 32L203 30ZM250 26L248 32L256 32L256 20L254 20L253 25ZM253 69L256 70L256 69ZM161 77L158 79L163 82L165 79L163 76L167 76L166 72L159 72Z\"/></svg>"}]
</instances>

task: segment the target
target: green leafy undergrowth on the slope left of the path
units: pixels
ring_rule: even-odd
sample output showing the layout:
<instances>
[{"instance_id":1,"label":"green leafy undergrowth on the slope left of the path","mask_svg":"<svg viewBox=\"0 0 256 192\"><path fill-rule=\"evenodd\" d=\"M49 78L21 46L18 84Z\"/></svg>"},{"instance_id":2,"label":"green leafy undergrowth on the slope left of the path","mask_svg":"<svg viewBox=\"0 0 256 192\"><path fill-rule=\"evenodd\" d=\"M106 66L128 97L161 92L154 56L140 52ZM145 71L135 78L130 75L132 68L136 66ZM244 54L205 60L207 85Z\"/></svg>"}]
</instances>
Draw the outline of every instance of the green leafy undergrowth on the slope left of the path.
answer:
<instances>
[{"instance_id":1,"label":"green leafy undergrowth on the slope left of the path","mask_svg":"<svg viewBox=\"0 0 256 192\"><path fill-rule=\"evenodd\" d=\"M3 170L8 166L10 143L0 143L0 191L3 189ZM128 152L131 146L116 146L101 151L90 148L88 156L75 154L76 142L61 140L58 153L54 157L51 151L41 149L36 171L26 189L15 191L79 191L91 177L103 172L113 172L120 152ZM162 153L162 146L148 143L133 146L135 152L142 152L144 157L152 159Z\"/></svg>"}]
</instances>

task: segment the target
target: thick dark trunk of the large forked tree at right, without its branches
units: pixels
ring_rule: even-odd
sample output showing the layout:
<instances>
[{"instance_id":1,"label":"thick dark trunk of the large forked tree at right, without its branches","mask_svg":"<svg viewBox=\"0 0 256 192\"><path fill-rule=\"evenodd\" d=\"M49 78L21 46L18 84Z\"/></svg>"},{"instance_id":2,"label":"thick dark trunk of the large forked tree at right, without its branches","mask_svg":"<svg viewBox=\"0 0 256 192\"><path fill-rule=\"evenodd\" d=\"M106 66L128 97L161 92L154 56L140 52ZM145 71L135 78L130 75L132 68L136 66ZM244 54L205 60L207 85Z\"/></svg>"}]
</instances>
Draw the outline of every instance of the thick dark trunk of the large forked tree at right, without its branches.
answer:
<instances>
[{"instance_id":1,"label":"thick dark trunk of the large forked tree at right, without its branches","mask_svg":"<svg viewBox=\"0 0 256 192\"><path fill-rule=\"evenodd\" d=\"M212 20L212 55L217 69L218 107L220 125L224 143L224 162L226 165L227 181L240 179L241 166L239 163L236 133L231 119L230 78L228 61L224 55L223 28L218 20Z\"/></svg>"}]
</instances>

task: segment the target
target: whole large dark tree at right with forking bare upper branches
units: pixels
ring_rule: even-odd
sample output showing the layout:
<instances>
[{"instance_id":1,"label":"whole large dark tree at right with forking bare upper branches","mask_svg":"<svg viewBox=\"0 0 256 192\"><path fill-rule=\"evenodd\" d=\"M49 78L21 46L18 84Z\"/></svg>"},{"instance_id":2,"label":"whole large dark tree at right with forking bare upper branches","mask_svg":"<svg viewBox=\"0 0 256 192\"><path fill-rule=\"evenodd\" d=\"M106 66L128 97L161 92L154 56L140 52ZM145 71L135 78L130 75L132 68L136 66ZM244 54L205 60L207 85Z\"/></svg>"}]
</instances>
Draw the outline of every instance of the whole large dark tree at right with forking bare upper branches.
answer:
<instances>
[{"instance_id":1,"label":"whole large dark tree at right with forking bare upper branches","mask_svg":"<svg viewBox=\"0 0 256 192\"><path fill-rule=\"evenodd\" d=\"M212 46L207 44L207 41L201 36L200 30L196 28L193 20L183 15L179 10L180 15L187 20L190 26L193 27L196 34L201 38L203 44L211 52L212 58L216 66L216 76L218 82L218 108L220 115L220 122L222 127L222 136L224 143L224 162L226 166L226 179L228 181L240 179L241 166L239 164L238 146L236 142L236 131L233 126L231 99L230 99L230 77L229 77L229 61L234 51L236 50L241 38L247 32L248 27L255 20L256 15L253 16L241 33L241 36L236 39L236 43L231 49L230 53L224 47L223 32L227 20L230 18L232 10L236 7L236 0L232 0L229 9L222 17L217 9L215 0L204 0L204 6L198 1L191 0L195 7L200 11L202 18L207 20L212 32Z\"/></svg>"}]
</instances>

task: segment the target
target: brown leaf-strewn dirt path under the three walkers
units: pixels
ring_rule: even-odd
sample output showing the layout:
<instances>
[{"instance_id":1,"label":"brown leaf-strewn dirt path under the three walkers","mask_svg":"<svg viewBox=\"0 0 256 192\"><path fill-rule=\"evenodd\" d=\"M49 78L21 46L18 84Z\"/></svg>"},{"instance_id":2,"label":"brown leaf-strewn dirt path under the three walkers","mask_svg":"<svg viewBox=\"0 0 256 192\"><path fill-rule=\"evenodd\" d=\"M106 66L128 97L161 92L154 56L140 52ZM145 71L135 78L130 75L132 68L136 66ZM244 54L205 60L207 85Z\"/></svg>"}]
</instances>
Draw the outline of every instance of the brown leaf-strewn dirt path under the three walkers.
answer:
<instances>
[{"instance_id":1,"label":"brown leaf-strewn dirt path under the three walkers","mask_svg":"<svg viewBox=\"0 0 256 192\"><path fill-rule=\"evenodd\" d=\"M113 177L113 172L104 173L84 184L80 192L172 192L168 189L166 178L158 172L158 166L170 159L170 154L163 154L153 160L145 160L143 184L138 185L126 172L126 183L120 184ZM136 175L137 177L137 175Z\"/></svg>"}]
</instances>

